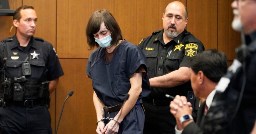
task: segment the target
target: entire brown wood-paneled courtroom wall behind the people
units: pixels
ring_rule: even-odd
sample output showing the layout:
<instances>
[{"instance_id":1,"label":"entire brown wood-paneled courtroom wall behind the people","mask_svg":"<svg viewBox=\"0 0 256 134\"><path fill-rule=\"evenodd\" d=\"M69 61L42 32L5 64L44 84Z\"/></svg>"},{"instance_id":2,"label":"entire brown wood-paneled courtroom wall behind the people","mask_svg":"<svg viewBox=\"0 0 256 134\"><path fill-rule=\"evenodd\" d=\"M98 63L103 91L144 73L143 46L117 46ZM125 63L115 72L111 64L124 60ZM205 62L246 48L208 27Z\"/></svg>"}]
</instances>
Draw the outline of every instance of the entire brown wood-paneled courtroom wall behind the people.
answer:
<instances>
[{"instance_id":1,"label":"entire brown wood-paneled courtroom wall behind the people","mask_svg":"<svg viewBox=\"0 0 256 134\"><path fill-rule=\"evenodd\" d=\"M52 128L58 122L63 101L73 90L64 108L58 133L95 133L96 112L93 106L91 79L86 77L87 50L85 29L89 17L100 9L109 10L123 32L123 38L138 44L163 28L165 6L174 0L9 0L11 9L32 5L38 22L35 36L51 42L58 52L65 75L51 94ZM234 59L240 35L231 28L232 0L180 0L188 8L187 30L200 39L205 48L216 48ZM0 16L0 39L9 36L12 17ZM11 36L15 33L15 28ZM56 115L56 116L55 116Z\"/></svg>"}]
</instances>

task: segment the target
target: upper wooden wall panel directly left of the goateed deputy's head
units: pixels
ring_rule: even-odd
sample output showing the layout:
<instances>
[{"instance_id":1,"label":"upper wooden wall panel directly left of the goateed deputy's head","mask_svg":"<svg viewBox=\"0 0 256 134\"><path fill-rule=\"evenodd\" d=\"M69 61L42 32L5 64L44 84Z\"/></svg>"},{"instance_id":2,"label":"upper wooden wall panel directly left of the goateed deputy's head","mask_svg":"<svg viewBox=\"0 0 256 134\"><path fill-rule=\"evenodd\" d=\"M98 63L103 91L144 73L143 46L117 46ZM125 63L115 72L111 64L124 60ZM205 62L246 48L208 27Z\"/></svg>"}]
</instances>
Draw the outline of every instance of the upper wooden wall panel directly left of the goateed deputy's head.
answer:
<instances>
[{"instance_id":1,"label":"upper wooden wall panel directly left of the goateed deputy's head","mask_svg":"<svg viewBox=\"0 0 256 134\"><path fill-rule=\"evenodd\" d=\"M163 29L163 11L165 6L175 0L136 0L135 29L133 43L138 43L152 32ZM186 0L178 0L186 5ZM146 4L145 4L146 3Z\"/></svg>"}]
</instances>

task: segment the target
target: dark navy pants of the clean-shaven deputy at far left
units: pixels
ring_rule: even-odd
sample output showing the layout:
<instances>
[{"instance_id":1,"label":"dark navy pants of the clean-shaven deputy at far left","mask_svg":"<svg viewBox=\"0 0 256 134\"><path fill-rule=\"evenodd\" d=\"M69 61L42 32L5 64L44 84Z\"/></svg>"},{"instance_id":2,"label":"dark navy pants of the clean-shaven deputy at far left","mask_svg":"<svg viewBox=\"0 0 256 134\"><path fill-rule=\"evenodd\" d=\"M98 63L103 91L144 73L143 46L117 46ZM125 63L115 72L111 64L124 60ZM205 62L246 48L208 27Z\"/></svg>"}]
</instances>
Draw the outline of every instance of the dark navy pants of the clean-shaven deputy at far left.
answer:
<instances>
[{"instance_id":1,"label":"dark navy pants of the clean-shaven deputy at far left","mask_svg":"<svg viewBox=\"0 0 256 134\"><path fill-rule=\"evenodd\" d=\"M41 105L1 107L0 134L52 134L50 113Z\"/></svg>"}]
</instances>

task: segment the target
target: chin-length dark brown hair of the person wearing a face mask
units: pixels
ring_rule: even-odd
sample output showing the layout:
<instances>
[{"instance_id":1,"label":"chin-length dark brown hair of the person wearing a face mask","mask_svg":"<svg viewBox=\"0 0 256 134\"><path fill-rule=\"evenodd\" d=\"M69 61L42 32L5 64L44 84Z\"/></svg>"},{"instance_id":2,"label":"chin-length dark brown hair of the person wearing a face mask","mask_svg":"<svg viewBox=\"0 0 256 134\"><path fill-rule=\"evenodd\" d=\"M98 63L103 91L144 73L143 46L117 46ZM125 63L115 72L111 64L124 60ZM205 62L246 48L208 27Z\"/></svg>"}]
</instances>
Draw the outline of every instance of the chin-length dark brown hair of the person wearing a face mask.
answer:
<instances>
[{"instance_id":1,"label":"chin-length dark brown hair of the person wearing a face mask","mask_svg":"<svg viewBox=\"0 0 256 134\"><path fill-rule=\"evenodd\" d=\"M99 47L99 44L95 42L93 34L100 30L102 22L104 22L107 29L111 32L111 45L117 44L119 40L123 39L121 29L112 14L106 9L98 10L91 15L86 27L89 50L93 49L95 46Z\"/></svg>"}]
</instances>

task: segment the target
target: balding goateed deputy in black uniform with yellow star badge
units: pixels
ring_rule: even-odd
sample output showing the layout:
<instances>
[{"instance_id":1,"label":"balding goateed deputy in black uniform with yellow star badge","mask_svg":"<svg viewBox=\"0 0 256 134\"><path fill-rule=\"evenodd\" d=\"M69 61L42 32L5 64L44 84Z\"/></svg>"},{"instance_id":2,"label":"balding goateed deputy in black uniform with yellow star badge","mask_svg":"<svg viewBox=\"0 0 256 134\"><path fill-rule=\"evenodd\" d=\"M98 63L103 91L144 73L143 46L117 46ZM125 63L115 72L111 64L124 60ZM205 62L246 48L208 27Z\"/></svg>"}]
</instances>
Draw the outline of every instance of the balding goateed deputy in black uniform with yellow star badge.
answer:
<instances>
[{"instance_id":1,"label":"balding goateed deputy in black uniform with yellow star badge","mask_svg":"<svg viewBox=\"0 0 256 134\"><path fill-rule=\"evenodd\" d=\"M175 117L169 112L171 96L192 91L189 60L204 50L201 41L185 30L188 18L181 2L169 3L163 12L163 29L144 38L139 47L147 57L152 91L143 100L145 134L175 133Z\"/></svg>"}]
</instances>

